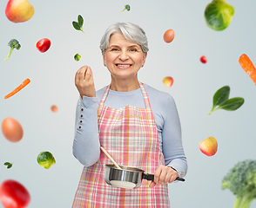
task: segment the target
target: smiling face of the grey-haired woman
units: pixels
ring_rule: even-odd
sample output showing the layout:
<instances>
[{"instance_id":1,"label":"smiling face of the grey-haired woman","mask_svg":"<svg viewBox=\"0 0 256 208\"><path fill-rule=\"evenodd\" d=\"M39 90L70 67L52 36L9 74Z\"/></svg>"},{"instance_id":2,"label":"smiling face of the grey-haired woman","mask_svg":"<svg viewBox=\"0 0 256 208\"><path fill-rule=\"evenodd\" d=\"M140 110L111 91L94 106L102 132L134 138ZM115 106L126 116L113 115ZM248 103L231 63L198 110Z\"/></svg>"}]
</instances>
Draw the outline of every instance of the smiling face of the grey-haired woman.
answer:
<instances>
[{"instance_id":1,"label":"smiling face of the grey-haired woman","mask_svg":"<svg viewBox=\"0 0 256 208\"><path fill-rule=\"evenodd\" d=\"M122 34L115 33L103 53L103 59L115 81L137 80L138 70L145 64L146 55L137 43L129 42Z\"/></svg>"}]
</instances>

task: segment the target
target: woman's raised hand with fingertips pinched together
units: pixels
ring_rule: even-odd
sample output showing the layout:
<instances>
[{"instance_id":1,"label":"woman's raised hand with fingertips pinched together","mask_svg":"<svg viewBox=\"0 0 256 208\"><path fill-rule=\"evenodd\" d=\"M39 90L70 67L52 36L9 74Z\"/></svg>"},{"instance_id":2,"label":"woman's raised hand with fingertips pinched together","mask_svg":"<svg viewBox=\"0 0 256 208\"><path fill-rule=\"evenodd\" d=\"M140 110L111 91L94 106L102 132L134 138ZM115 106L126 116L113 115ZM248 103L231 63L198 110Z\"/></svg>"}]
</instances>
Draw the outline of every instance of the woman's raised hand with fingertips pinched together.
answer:
<instances>
[{"instance_id":1,"label":"woman's raised hand with fingertips pinched together","mask_svg":"<svg viewBox=\"0 0 256 208\"><path fill-rule=\"evenodd\" d=\"M94 88L94 81L90 67L84 66L77 70L75 76L75 85L82 99L83 95L87 97L96 97L96 91Z\"/></svg>"}]
</instances>

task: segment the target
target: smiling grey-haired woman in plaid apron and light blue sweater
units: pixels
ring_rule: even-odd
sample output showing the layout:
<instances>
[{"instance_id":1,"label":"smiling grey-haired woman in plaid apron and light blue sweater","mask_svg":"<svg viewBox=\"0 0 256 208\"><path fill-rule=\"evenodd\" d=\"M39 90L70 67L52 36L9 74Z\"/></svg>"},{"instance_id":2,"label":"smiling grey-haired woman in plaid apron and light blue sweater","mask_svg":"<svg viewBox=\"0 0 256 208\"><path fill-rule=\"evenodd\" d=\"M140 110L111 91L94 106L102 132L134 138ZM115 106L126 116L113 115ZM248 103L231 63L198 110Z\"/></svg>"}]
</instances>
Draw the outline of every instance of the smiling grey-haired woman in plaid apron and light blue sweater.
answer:
<instances>
[{"instance_id":1,"label":"smiling grey-haired woman in plaid apron and light blue sweater","mask_svg":"<svg viewBox=\"0 0 256 208\"><path fill-rule=\"evenodd\" d=\"M77 70L77 101L73 154L84 165L73 201L77 207L170 207L168 183L187 170L179 115L170 94L138 81L145 65L145 31L133 23L115 23L100 42L110 85L97 92L91 68ZM111 164L100 146L122 166L154 173L137 189L104 181L104 165Z\"/></svg>"}]
</instances>

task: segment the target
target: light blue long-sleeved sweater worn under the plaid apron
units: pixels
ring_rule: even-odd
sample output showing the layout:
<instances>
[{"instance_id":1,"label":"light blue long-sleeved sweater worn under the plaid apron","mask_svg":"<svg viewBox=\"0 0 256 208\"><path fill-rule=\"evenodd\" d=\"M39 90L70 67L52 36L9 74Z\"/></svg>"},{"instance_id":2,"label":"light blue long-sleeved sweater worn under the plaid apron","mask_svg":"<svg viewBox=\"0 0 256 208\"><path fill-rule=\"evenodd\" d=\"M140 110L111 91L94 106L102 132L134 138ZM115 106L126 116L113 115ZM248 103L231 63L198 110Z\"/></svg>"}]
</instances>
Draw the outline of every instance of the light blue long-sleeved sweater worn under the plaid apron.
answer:
<instances>
[{"instance_id":1,"label":"light blue long-sleeved sweater worn under the plaid apron","mask_svg":"<svg viewBox=\"0 0 256 208\"><path fill-rule=\"evenodd\" d=\"M152 113L158 128L159 146L165 158L165 166L172 166L180 177L187 171L187 162L181 140L179 114L170 94L158 91L144 84L152 107ZM100 144L98 139L98 105L105 88L96 92L96 97L79 96L77 101L75 138L73 154L84 166L91 166L99 159ZM145 101L140 88L119 92L110 89L104 106L122 109L125 106L145 108Z\"/></svg>"}]
</instances>

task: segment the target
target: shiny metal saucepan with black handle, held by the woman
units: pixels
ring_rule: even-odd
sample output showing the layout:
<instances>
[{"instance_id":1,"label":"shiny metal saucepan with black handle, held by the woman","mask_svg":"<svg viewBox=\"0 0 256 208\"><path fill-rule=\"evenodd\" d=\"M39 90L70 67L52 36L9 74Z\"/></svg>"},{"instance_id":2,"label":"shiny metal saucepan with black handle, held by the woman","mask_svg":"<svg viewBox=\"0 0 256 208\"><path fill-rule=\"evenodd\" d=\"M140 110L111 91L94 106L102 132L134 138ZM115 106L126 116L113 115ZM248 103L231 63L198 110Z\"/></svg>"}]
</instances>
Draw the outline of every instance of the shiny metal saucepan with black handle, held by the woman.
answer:
<instances>
[{"instance_id":1,"label":"shiny metal saucepan with black handle, held by the woman","mask_svg":"<svg viewBox=\"0 0 256 208\"><path fill-rule=\"evenodd\" d=\"M120 166L120 168L118 169L115 165L105 165L104 180L108 185L135 189L142 184L142 179L154 180L154 175L146 174L145 171L136 167ZM175 180L185 181L179 177Z\"/></svg>"}]
</instances>

